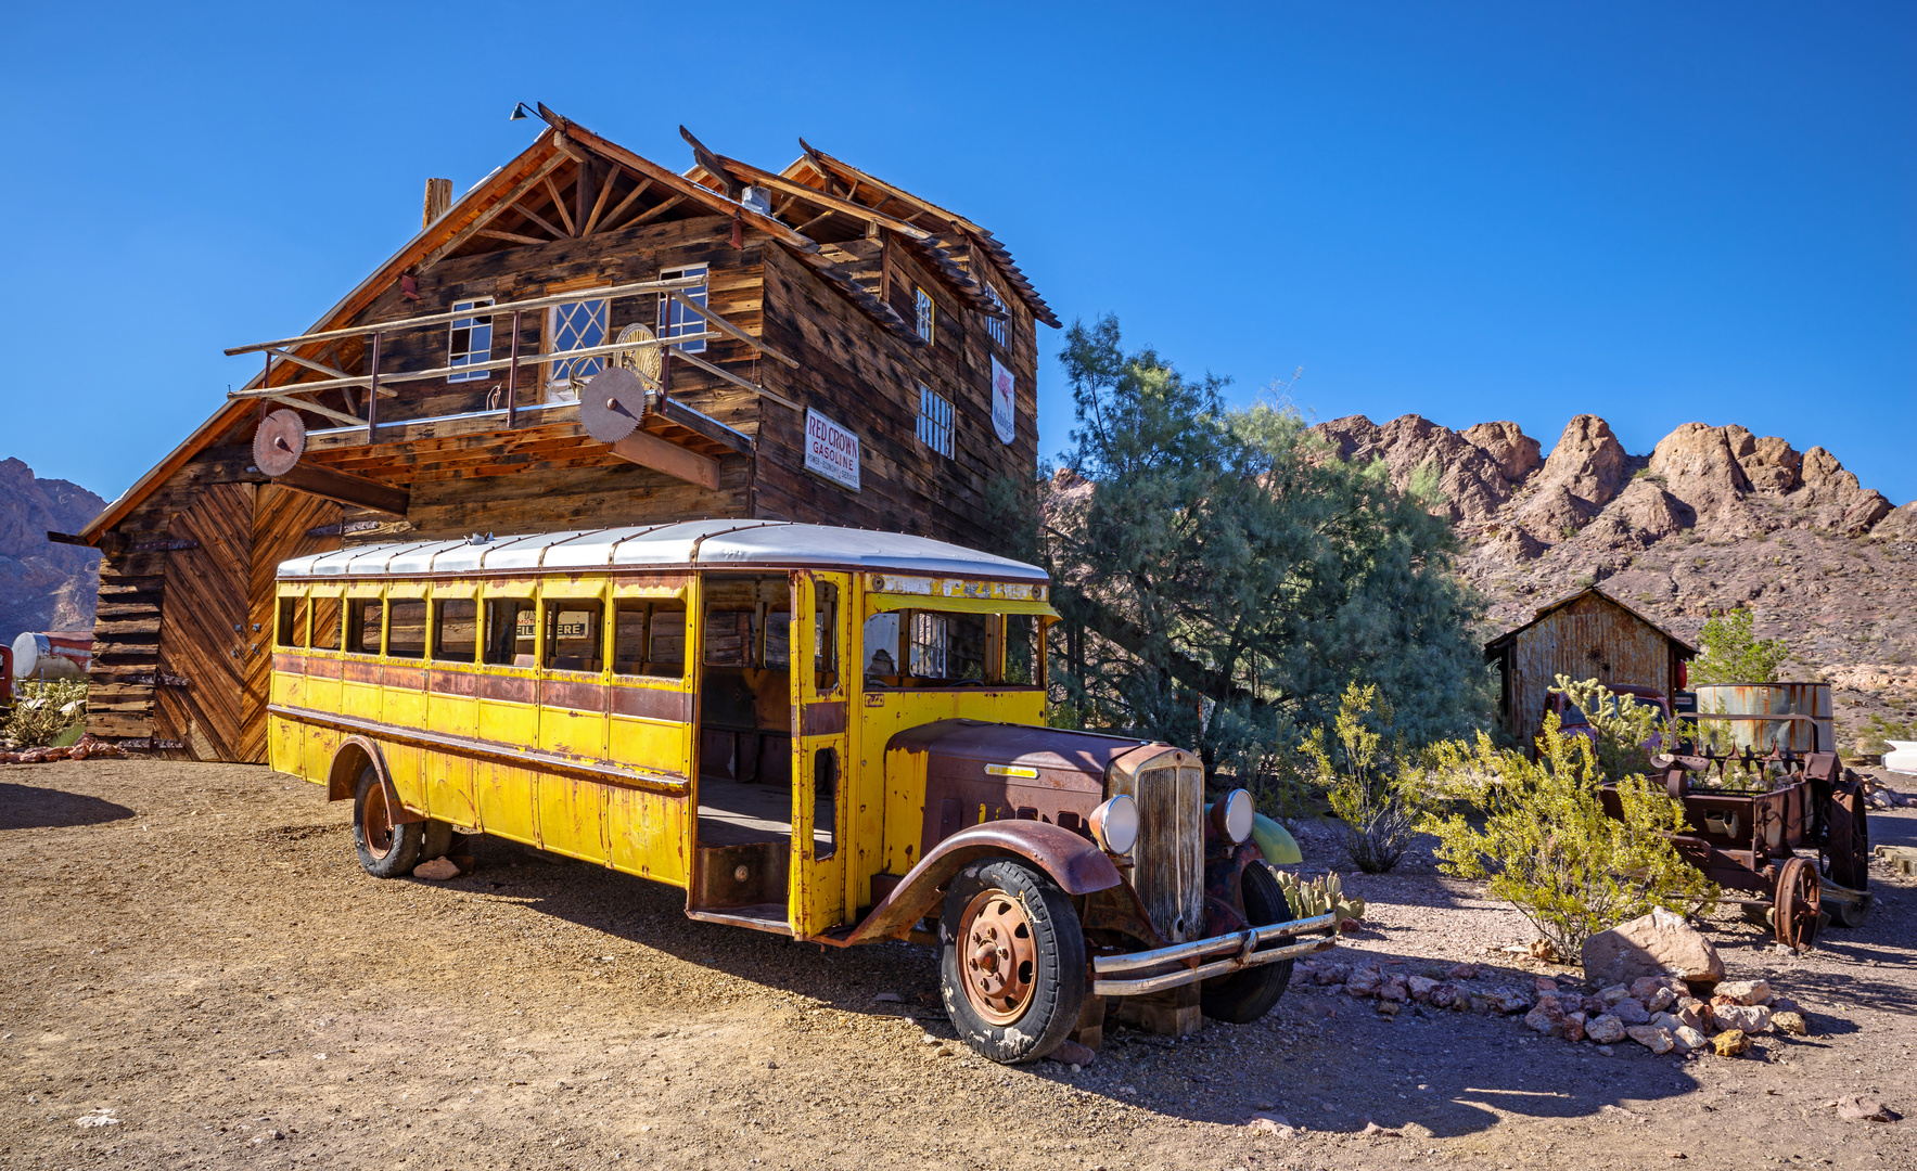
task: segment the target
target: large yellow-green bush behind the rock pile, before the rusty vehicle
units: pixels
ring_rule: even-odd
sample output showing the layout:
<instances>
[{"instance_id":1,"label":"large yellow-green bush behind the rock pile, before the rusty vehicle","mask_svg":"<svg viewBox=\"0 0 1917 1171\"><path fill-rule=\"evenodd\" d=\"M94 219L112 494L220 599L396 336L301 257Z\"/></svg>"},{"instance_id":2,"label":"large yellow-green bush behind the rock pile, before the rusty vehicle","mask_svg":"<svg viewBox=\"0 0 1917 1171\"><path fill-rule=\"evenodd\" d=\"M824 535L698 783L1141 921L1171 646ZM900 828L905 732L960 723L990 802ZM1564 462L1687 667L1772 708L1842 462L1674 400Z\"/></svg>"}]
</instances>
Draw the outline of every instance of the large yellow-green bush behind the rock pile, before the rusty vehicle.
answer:
<instances>
[{"instance_id":1,"label":"large yellow-green bush behind the rock pile, before the rusty vehicle","mask_svg":"<svg viewBox=\"0 0 1917 1171\"><path fill-rule=\"evenodd\" d=\"M1624 820L1606 816L1591 744L1562 734L1557 715L1545 717L1537 744L1537 761L1499 751L1482 732L1476 744L1428 753L1440 792L1474 815L1420 824L1438 836L1442 872L1488 878L1491 895L1516 907L1560 956L1652 907L1685 912L1716 903L1718 887L1666 838L1685 832L1681 803L1628 776L1616 786Z\"/></svg>"}]
</instances>

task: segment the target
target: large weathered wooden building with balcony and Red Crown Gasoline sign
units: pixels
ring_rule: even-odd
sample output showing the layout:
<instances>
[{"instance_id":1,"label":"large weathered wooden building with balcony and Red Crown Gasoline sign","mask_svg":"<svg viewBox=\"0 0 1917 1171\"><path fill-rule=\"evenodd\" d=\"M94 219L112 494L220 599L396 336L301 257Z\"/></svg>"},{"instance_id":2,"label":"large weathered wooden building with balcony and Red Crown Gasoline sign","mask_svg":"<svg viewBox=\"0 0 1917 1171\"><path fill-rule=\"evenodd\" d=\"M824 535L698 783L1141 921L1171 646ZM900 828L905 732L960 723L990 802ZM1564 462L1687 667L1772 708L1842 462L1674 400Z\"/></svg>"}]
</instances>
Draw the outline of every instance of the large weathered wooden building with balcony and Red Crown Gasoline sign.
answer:
<instances>
[{"instance_id":1,"label":"large weathered wooden building with balcony and Red Crown Gasoline sign","mask_svg":"<svg viewBox=\"0 0 1917 1171\"><path fill-rule=\"evenodd\" d=\"M94 736L263 761L274 565L341 542L767 517L997 544L1058 318L991 232L803 140L761 171L681 130L673 171L539 115L462 197L427 180L420 234L312 330L228 351L253 381L56 535L105 554Z\"/></svg>"}]
</instances>

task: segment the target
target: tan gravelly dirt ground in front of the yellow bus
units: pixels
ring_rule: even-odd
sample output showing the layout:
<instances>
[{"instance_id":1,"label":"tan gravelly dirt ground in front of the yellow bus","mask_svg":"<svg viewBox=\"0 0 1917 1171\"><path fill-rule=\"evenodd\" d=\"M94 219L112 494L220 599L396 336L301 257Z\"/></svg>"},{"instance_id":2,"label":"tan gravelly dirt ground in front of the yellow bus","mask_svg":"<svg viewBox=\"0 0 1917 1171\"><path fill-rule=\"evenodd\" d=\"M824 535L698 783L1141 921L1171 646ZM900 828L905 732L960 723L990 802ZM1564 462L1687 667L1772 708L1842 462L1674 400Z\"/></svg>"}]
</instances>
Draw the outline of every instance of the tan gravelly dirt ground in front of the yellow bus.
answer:
<instances>
[{"instance_id":1,"label":"tan gravelly dirt ground in front of the yellow bus","mask_svg":"<svg viewBox=\"0 0 1917 1171\"><path fill-rule=\"evenodd\" d=\"M1294 989L1190 1041L1108 1031L1072 1071L937 1056L928 949L696 924L679 891L500 841L468 878L380 882L347 822L255 767L0 769L0 1167L1917 1165L1917 1119L1827 1106L1917 1112L1917 893L1882 870L1869 924L1806 956L1716 924L1733 976L1810 1010L1750 1058ZM1917 811L1871 822L1917 843ZM1474 884L1350 885L1373 930L1348 947L1530 985L1488 951L1522 920Z\"/></svg>"}]
</instances>

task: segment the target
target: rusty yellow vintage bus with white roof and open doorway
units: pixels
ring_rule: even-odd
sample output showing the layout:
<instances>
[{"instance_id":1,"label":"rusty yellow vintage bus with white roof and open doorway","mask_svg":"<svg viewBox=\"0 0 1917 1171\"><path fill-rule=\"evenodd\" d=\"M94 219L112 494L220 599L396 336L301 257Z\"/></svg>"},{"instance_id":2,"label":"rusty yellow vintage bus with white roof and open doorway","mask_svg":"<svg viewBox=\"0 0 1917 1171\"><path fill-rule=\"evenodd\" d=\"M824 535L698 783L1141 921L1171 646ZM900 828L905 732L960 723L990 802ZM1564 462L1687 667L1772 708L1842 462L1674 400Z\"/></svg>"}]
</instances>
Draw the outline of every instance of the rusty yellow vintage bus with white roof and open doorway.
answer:
<instances>
[{"instance_id":1,"label":"rusty yellow vintage bus with white roof and open doorway","mask_svg":"<svg viewBox=\"0 0 1917 1171\"><path fill-rule=\"evenodd\" d=\"M345 548L276 590L272 767L353 801L374 876L495 834L698 920L932 943L999 1062L1097 1041L1110 999L1256 1020L1330 947L1248 793L1208 807L1189 751L1043 726L1035 565L715 519Z\"/></svg>"}]
</instances>

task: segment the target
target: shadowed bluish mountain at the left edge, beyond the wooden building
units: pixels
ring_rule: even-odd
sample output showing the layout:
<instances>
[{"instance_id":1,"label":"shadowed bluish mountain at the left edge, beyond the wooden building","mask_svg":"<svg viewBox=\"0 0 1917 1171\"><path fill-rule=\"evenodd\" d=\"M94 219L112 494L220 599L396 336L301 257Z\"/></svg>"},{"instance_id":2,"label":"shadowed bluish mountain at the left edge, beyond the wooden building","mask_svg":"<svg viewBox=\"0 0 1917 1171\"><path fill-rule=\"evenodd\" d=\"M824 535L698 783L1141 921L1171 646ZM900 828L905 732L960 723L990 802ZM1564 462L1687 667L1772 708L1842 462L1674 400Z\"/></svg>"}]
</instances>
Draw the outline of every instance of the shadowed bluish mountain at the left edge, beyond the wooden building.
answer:
<instances>
[{"instance_id":1,"label":"shadowed bluish mountain at the left edge, beyond the wooden building","mask_svg":"<svg viewBox=\"0 0 1917 1171\"><path fill-rule=\"evenodd\" d=\"M107 502L65 479L40 479L21 460L0 460L0 638L21 631L88 631L100 588L100 554L54 544Z\"/></svg>"}]
</instances>

